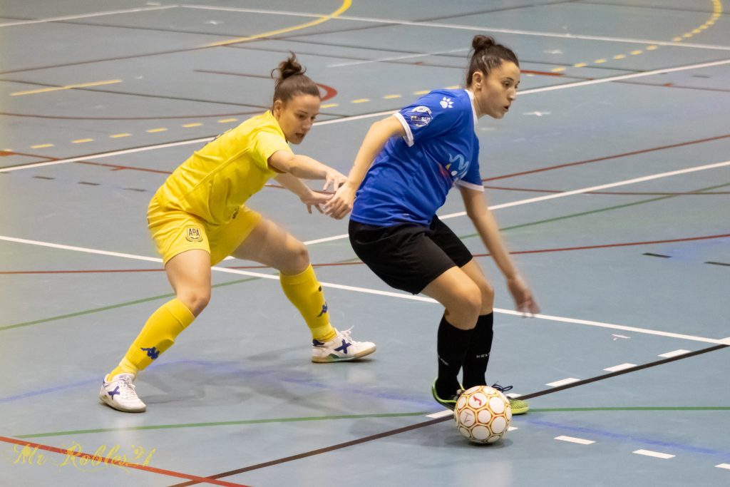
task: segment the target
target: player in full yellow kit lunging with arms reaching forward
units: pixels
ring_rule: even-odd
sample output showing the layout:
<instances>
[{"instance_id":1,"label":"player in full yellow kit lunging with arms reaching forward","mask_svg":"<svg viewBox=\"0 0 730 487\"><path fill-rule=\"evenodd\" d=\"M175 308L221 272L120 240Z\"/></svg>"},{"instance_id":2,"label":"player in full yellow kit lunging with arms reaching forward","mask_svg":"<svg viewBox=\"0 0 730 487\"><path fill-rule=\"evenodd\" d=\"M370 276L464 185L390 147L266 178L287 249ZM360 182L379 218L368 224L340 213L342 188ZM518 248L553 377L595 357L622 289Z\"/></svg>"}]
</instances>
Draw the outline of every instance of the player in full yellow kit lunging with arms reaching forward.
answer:
<instances>
[{"instance_id":1,"label":"player in full yellow kit lunging with arms reaching forward","mask_svg":"<svg viewBox=\"0 0 730 487\"><path fill-rule=\"evenodd\" d=\"M276 70L274 70L276 71ZM174 343L210 301L210 267L226 256L256 261L280 272L285 296L312 332L312 361L349 361L375 351L329 322L327 303L304 244L245 206L275 178L301 202L320 209L331 193L312 191L299 178L325 180L336 191L346 177L292 153L319 112L318 86L291 55L279 64L272 109L246 120L193 153L158 189L147 223L175 297L153 312L119 365L104 376L99 399L120 411L146 409L134 378ZM273 72L272 72L273 74Z\"/></svg>"}]
</instances>

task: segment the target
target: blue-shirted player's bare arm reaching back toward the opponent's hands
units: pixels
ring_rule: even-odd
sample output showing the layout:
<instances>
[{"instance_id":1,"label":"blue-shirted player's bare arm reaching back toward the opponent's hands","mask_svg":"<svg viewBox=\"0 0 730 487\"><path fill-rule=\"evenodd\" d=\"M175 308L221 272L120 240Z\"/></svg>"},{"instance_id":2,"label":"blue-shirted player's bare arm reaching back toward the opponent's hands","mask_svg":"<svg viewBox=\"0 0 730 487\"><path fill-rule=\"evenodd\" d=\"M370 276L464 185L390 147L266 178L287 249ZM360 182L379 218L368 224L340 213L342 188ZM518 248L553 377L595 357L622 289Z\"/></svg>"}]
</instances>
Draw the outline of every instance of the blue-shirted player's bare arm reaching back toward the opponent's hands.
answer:
<instances>
[{"instance_id":1,"label":"blue-shirted player's bare arm reaching back toward the opponent's hands","mask_svg":"<svg viewBox=\"0 0 730 487\"><path fill-rule=\"evenodd\" d=\"M355 202L355 193L358 191L360 184L363 182L368 169L372 166L375 157L383 149L385 142L391 137L403 137L406 134L405 129L394 116L378 120L370 126L365 135L358 155L355 156L355 163L347 175L347 180L340 186L337 193L324 207L324 211L332 218L345 218L345 215L353 209Z\"/></svg>"}]
</instances>

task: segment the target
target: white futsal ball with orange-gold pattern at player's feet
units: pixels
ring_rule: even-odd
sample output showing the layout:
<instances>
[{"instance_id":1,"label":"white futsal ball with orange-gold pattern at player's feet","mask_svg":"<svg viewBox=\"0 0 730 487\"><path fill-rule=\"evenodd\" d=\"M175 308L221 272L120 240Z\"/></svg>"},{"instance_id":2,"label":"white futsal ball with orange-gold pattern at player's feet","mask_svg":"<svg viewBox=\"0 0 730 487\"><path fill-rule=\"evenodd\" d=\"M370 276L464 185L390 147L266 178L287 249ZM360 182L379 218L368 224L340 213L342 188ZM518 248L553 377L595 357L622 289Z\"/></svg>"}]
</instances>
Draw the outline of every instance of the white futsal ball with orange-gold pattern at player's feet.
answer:
<instances>
[{"instance_id":1,"label":"white futsal ball with orange-gold pattern at player's feet","mask_svg":"<svg viewBox=\"0 0 730 487\"><path fill-rule=\"evenodd\" d=\"M454 407L454 421L459 433L477 443L501 440L511 420L510 400L489 386L467 389Z\"/></svg>"}]
</instances>

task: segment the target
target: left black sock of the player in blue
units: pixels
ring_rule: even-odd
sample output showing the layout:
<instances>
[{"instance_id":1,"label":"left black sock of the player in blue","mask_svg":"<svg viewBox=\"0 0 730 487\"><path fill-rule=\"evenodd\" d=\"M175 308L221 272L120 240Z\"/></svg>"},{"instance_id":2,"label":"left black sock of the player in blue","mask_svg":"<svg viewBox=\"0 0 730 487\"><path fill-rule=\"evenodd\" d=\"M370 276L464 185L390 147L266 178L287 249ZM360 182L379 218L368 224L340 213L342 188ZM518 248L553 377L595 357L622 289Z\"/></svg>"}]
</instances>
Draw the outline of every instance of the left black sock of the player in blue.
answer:
<instances>
[{"instance_id":1,"label":"left black sock of the player in blue","mask_svg":"<svg viewBox=\"0 0 730 487\"><path fill-rule=\"evenodd\" d=\"M473 330L461 330L441 318L437 335L436 350L439 354L439 377L436 379L436 393L442 399L453 396L459 388L458 371L464 363Z\"/></svg>"}]
</instances>

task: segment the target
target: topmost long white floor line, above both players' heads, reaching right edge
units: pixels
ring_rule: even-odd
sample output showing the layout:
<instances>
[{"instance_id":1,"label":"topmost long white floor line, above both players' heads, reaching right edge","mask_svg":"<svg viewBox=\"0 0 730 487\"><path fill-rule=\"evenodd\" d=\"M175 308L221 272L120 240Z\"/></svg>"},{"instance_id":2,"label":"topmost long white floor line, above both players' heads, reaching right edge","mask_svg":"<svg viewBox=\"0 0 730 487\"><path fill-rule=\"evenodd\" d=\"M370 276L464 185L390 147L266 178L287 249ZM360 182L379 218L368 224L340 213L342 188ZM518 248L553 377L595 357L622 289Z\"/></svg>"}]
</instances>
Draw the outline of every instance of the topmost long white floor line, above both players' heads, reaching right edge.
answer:
<instances>
[{"instance_id":1,"label":"topmost long white floor line, above both players' heads, reaching right edge","mask_svg":"<svg viewBox=\"0 0 730 487\"><path fill-rule=\"evenodd\" d=\"M247 9L239 7L211 7L207 5L180 5L185 9L205 9L205 10L224 10L227 12L247 12L247 13L261 13L269 15L291 15L294 17L313 17L319 18L323 14L310 14L306 12L288 12L288 11L277 11L277 10L265 10L265 9ZM582 34L565 34L558 32L540 32L540 31L522 31L512 28L495 28L488 26L466 26L453 23L438 23L438 22L416 22L410 20L395 20L395 19L384 19L384 18L372 18L372 17L355 17L352 15L340 15L336 20L353 20L356 22L371 22L371 23L386 23L398 26L415 26L415 27L434 27L434 28L452 28L462 31L489 31L499 32L501 34L519 34L525 36L537 36L537 37L558 37L560 39L580 39L589 41L607 41L607 42L625 42L629 44L656 44L663 46L674 46L674 47L691 47L695 49L713 49L713 50L730 50L730 46L721 45L710 45L710 44L693 44L691 42L669 42L669 41L657 41L651 39L629 39L625 37L606 37L606 36L587 36Z\"/></svg>"}]
</instances>

